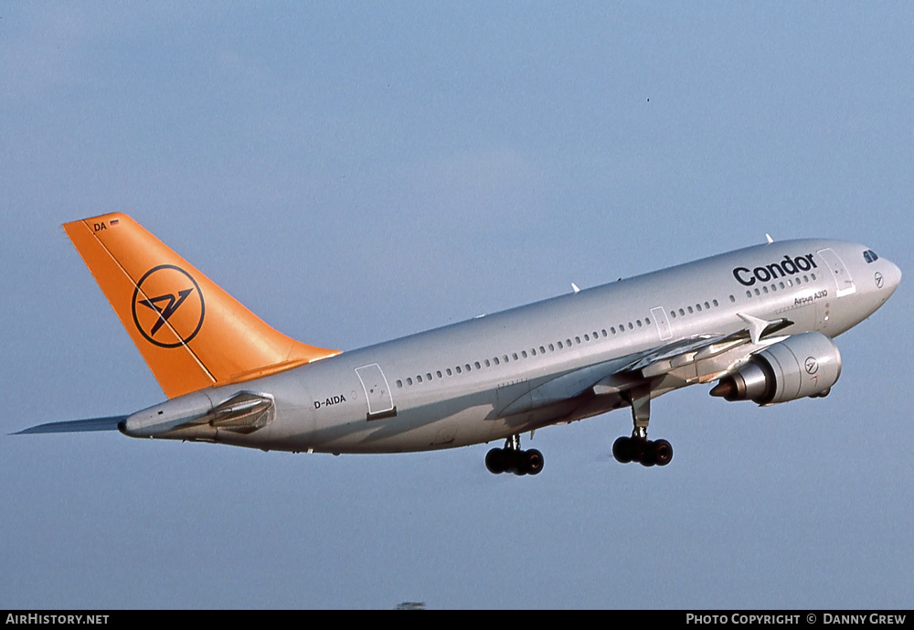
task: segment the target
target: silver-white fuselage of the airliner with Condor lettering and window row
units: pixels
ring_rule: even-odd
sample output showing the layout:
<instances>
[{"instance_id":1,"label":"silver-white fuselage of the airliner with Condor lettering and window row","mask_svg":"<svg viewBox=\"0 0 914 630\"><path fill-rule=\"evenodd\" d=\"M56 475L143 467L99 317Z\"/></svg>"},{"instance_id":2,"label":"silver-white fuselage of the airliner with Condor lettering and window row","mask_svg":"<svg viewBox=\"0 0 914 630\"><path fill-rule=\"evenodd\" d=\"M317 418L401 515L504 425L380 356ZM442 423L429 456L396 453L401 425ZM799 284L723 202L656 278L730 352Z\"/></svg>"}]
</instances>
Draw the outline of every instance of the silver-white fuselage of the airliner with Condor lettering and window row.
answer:
<instances>
[{"instance_id":1,"label":"silver-white fuselage of the airliner with Condor lettering and window row","mask_svg":"<svg viewBox=\"0 0 914 630\"><path fill-rule=\"evenodd\" d=\"M736 333L747 327L745 315L789 320L779 339L840 335L884 304L900 281L897 266L866 261L864 251L834 240L733 251L200 390L134 413L123 431L326 453L504 439L627 406L623 394L636 382L655 397L718 378L770 341L707 359L693 352L656 373L626 367L654 349ZM272 400L270 422L250 432L194 422L239 392Z\"/></svg>"}]
</instances>

